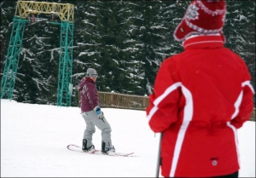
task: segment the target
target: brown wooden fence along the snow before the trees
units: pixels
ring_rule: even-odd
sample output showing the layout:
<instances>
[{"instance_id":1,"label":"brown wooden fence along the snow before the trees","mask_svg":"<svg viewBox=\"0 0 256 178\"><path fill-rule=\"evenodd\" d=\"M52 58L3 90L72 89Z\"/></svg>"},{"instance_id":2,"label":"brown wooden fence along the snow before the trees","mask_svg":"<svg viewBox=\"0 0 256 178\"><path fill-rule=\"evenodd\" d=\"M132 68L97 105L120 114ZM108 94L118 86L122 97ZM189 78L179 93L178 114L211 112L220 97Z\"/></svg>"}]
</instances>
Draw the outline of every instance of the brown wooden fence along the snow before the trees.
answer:
<instances>
[{"instance_id":1,"label":"brown wooden fence along the snow before the trees","mask_svg":"<svg viewBox=\"0 0 256 178\"><path fill-rule=\"evenodd\" d=\"M102 107L145 111L148 106L148 96L125 95L102 91L98 91L98 94ZM253 108L253 114L250 120L255 121L255 107Z\"/></svg>"}]
</instances>

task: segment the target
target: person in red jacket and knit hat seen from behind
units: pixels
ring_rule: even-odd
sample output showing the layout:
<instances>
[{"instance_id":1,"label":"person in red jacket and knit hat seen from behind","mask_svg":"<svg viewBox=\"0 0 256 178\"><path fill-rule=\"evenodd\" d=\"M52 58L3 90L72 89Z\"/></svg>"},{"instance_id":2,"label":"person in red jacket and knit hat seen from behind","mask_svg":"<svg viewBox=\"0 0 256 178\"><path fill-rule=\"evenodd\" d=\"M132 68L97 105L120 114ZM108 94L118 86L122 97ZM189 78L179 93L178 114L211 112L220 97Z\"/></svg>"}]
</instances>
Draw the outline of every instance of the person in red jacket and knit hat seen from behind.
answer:
<instances>
[{"instance_id":1,"label":"person in red jacket and knit hat seen from behind","mask_svg":"<svg viewBox=\"0 0 256 178\"><path fill-rule=\"evenodd\" d=\"M184 51L167 58L149 96L147 118L162 133L161 175L238 177L236 129L253 112L245 62L224 48L223 0L194 0L173 36Z\"/></svg>"}]
</instances>

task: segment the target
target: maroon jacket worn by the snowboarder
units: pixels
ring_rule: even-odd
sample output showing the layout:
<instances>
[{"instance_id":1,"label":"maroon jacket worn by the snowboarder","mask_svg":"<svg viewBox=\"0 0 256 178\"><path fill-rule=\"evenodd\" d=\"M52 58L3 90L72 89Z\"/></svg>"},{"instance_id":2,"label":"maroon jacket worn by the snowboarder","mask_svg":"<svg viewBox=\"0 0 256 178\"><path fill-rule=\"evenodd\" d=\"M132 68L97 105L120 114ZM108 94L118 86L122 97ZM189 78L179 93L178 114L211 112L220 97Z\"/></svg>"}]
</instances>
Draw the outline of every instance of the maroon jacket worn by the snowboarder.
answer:
<instances>
[{"instance_id":1,"label":"maroon jacket worn by the snowboarder","mask_svg":"<svg viewBox=\"0 0 256 178\"><path fill-rule=\"evenodd\" d=\"M99 106L96 83L92 79L83 78L78 89L81 92L81 112L90 112L95 106Z\"/></svg>"}]
</instances>

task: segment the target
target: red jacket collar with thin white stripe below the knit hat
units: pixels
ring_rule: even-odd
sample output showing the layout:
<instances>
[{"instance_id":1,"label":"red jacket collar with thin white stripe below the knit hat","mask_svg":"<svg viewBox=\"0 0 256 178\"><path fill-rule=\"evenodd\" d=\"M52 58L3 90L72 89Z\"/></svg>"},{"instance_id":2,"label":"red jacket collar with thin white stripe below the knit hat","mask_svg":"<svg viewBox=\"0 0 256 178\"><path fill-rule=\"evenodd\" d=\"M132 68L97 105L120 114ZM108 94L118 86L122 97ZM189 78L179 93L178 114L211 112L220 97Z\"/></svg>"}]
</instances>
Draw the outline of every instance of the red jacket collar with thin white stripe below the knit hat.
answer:
<instances>
[{"instance_id":1,"label":"red jacket collar with thin white stripe below the knit hat","mask_svg":"<svg viewBox=\"0 0 256 178\"><path fill-rule=\"evenodd\" d=\"M184 49L216 49L224 47L224 39L221 36L196 36L183 42Z\"/></svg>"}]
</instances>

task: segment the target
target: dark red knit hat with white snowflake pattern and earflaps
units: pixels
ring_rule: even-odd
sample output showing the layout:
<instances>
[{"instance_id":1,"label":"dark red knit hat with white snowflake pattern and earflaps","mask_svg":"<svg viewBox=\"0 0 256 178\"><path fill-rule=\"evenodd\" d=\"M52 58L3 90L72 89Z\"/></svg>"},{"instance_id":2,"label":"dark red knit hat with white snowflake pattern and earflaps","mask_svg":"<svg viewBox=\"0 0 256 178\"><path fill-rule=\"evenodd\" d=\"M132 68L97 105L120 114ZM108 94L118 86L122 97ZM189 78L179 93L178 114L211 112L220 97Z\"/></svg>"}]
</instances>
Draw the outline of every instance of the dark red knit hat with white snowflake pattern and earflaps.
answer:
<instances>
[{"instance_id":1,"label":"dark red knit hat with white snowflake pattern and earflaps","mask_svg":"<svg viewBox=\"0 0 256 178\"><path fill-rule=\"evenodd\" d=\"M193 0L183 20L176 27L173 37L183 41L192 34L220 33L224 38L226 4L224 0Z\"/></svg>"}]
</instances>

